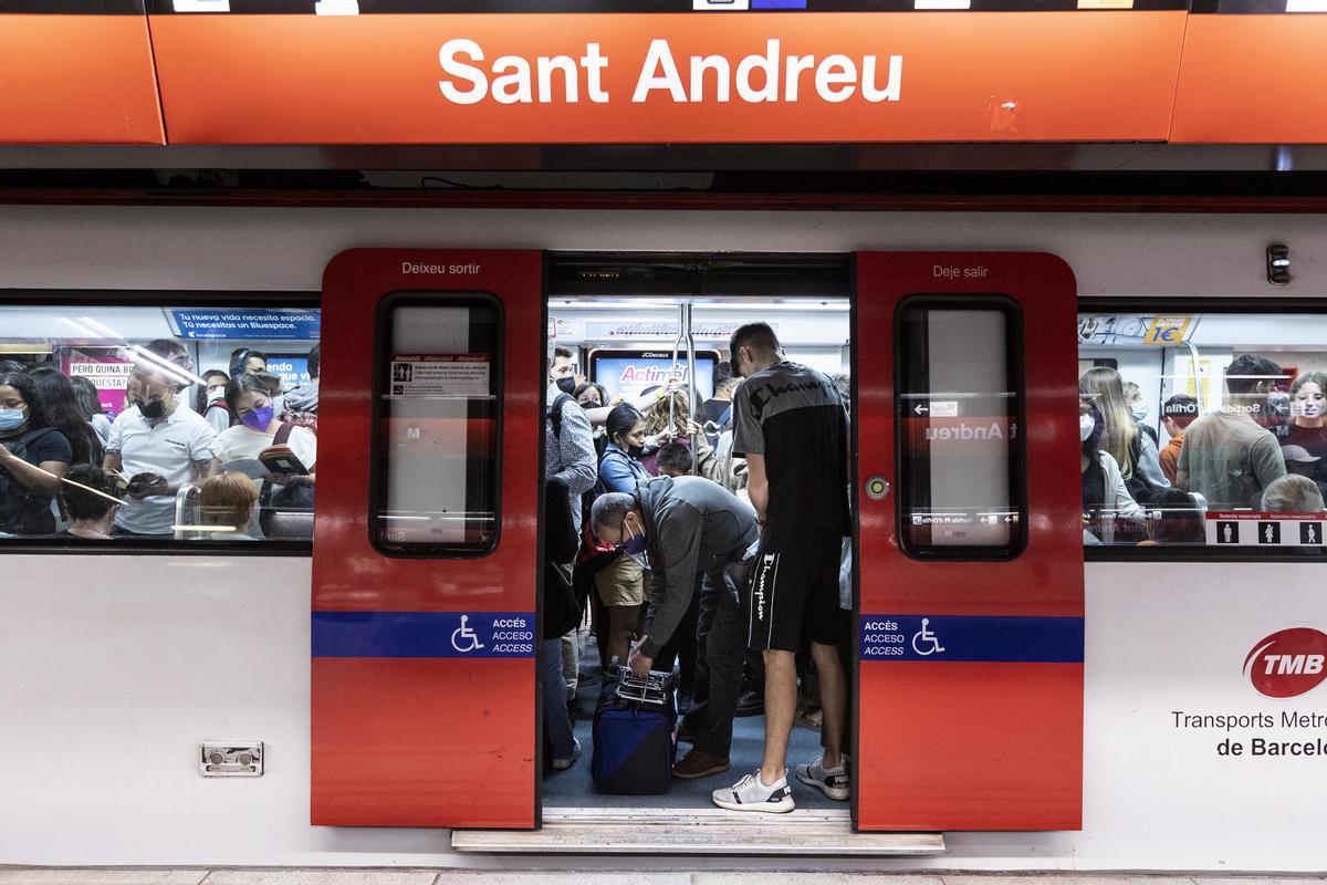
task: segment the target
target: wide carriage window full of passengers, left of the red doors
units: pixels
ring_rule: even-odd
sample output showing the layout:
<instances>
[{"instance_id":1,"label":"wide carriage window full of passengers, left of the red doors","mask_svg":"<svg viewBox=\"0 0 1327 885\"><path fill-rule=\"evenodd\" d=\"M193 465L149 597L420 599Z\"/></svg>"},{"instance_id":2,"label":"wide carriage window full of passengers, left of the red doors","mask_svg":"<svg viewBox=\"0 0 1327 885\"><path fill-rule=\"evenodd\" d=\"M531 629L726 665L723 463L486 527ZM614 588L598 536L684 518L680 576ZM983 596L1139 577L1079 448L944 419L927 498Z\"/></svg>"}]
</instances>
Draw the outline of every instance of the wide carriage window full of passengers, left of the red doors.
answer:
<instances>
[{"instance_id":1,"label":"wide carriage window full of passengers, left of the red doors","mask_svg":"<svg viewBox=\"0 0 1327 885\"><path fill-rule=\"evenodd\" d=\"M313 306L0 309L0 539L303 547Z\"/></svg>"}]
</instances>

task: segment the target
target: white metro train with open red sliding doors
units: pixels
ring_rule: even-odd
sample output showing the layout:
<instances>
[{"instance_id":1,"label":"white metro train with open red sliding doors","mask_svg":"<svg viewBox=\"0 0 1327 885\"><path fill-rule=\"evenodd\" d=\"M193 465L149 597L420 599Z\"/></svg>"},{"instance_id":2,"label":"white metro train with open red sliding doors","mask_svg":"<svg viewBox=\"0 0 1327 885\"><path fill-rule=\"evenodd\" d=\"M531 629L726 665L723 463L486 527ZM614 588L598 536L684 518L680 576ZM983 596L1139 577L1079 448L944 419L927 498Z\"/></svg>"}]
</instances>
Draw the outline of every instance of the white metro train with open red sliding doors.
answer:
<instances>
[{"instance_id":1,"label":"white metro train with open red sliding doors","mask_svg":"<svg viewBox=\"0 0 1327 885\"><path fill-rule=\"evenodd\" d=\"M1304 816L1262 821L1311 805L1323 775L1221 755L1235 735L1204 716L1271 711L1259 736L1312 736L1281 724L1312 686L1269 694L1249 665L1270 637L1327 629L1322 507L1206 490L1200 536L1147 543L1160 507L1085 512L1074 423L1083 379L1112 370L1136 386L1135 437L1164 450L1168 402L1238 411L1227 368L1262 357L1277 369L1249 421L1278 441L1282 472L1315 484L1318 215L29 206L0 219L0 358L90 378L113 418L133 414L133 365L162 338L196 373L179 379L183 407L208 370L243 370L242 349L280 378L277 414L295 411L280 402L292 390L316 383L318 401L312 539L216 540L187 490L169 536L0 539L0 748L21 760L25 797L0 811L5 860L516 868L476 852L557 832L591 856L567 864L592 869L613 851L596 841L605 820L703 831L702 792L591 792L589 747L547 771L532 651L446 638L537 630L551 344L610 397L675 374L698 407L731 332L762 320L792 358L849 379L856 625L853 799L799 793L763 853L798 853L828 827L839 856L821 869L904 852L873 862L1320 865ZM1267 281L1270 243L1290 249L1289 288ZM881 640L928 630L947 658ZM1316 653L1295 641L1275 642ZM593 687L587 674L583 740ZM758 722L739 720L735 756L758 748ZM261 778L199 778L190 752L218 740L261 742ZM796 748L816 742L795 731ZM1168 829L1184 840L1152 839ZM871 841L904 832L943 841Z\"/></svg>"}]
</instances>

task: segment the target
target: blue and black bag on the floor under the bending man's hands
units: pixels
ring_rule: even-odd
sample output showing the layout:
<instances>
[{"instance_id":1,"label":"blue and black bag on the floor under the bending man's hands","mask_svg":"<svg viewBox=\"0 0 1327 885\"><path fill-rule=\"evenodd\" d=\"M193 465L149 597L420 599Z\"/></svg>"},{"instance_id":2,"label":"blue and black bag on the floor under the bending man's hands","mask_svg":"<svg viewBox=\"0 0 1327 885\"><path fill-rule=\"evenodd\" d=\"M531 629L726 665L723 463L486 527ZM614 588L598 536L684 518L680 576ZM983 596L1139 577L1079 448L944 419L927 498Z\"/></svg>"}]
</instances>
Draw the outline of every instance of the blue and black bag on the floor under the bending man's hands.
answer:
<instances>
[{"instance_id":1,"label":"blue and black bag on the floor under the bending man's hands","mask_svg":"<svg viewBox=\"0 0 1327 885\"><path fill-rule=\"evenodd\" d=\"M604 671L594 709L594 792L650 796L669 791L677 756L671 681L671 674L652 673L642 686L626 667Z\"/></svg>"}]
</instances>

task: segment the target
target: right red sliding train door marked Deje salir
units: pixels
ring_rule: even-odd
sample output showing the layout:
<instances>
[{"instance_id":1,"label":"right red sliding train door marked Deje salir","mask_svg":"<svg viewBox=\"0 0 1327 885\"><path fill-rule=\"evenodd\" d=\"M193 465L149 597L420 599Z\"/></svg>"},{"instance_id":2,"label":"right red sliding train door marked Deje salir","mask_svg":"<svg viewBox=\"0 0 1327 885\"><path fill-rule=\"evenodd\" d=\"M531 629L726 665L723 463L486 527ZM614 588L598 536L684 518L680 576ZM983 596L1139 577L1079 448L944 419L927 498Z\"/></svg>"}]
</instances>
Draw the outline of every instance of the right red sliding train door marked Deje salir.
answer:
<instances>
[{"instance_id":1,"label":"right red sliding train door marked Deje salir","mask_svg":"<svg viewBox=\"0 0 1327 885\"><path fill-rule=\"evenodd\" d=\"M1078 829L1075 283L860 253L860 829Z\"/></svg>"}]
</instances>

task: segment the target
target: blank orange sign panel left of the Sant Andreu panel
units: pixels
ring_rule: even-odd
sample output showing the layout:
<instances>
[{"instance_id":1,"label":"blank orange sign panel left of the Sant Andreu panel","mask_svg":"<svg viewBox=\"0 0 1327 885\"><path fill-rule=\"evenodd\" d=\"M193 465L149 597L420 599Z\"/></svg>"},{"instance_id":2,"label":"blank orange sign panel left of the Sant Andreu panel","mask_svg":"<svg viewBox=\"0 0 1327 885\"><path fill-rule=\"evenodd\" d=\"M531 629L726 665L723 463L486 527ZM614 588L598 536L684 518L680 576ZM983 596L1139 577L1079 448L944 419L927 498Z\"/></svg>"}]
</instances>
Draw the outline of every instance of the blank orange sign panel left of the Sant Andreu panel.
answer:
<instances>
[{"instance_id":1,"label":"blank orange sign panel left of the Sant Andreu panel","mask_svg":"<svg viewBox=\"0 0 1327 885\"><path fill-rule=\"evenodd\" d=\"M165 143L143 15L3 15L0 46L0 143Z\"/></svg>"}]
</instances>

